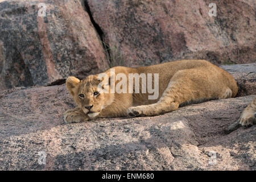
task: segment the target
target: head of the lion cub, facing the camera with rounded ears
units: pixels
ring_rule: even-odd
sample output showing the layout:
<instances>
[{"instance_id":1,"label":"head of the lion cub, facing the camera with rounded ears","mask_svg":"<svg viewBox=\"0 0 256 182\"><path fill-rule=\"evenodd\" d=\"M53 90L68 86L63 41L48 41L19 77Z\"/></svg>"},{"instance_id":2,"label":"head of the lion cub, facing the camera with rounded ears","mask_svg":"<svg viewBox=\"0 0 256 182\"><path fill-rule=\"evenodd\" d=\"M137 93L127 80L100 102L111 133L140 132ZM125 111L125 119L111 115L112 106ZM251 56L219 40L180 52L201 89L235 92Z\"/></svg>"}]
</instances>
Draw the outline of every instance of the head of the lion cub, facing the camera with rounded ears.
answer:
<instances>
[{"instance_id":1,"label":"head of the lion cub, facing the camera with rounded ears","mask_svg":"<svg viewBox=\"0 0 256 182\"><path fill-rule=\"evenodd\" d=\"M104 92L104 86L102 86L103 89L98 89L102 79L99 79L98 75L90 75L83 80L71 76L66 81L68 91L71 93L76 104L90 118L96 117L102 109L105 109L106 106L114 101L114 94ZM105 85L105 89L110 89L109 85Z\"/></svg>"}]
</instances>

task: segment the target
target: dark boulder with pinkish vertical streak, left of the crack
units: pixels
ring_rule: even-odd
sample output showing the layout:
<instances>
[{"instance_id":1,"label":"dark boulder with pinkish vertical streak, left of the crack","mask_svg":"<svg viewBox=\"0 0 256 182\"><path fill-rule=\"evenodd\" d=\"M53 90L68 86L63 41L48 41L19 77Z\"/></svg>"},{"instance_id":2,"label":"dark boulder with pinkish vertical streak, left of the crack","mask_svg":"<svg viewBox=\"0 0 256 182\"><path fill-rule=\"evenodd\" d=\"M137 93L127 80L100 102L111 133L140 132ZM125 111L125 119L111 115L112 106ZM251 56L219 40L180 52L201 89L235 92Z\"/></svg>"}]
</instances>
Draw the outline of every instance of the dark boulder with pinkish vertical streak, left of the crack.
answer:
<instances>
[{"instance_id":1,"label":"dark boulder with pinkish vertical streak, left of the crack","mask_svg":"<svg viewBox=\"0 0 256 182\"><path fill-rule=\"evenodd\" d=\"M39 16L39 3L46 5L46 16ZM1 1L0 14L0 90L82 78L109 67L80 1Z\"/></svg>"}]
</instances>

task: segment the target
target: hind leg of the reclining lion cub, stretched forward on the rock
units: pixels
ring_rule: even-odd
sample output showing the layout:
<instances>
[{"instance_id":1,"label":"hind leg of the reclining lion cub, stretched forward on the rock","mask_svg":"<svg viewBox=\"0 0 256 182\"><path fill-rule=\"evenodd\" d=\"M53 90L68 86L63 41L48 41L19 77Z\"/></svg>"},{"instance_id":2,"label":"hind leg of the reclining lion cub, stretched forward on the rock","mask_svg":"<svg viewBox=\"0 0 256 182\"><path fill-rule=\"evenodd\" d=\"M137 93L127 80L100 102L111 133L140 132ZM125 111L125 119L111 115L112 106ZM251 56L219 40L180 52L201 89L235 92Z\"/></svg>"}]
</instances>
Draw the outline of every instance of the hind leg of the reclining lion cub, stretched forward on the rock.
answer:
<instances>
[{"instance_id":1,"label":"hind leg of the reclining lion cub, stretched forward on the rock","mask_svg":"<svg viewBox=\"0 0 256 182\"><path fill-rule=\"evenodd\" d=\"M152 116L174 111L183 103L193 103L218 97L231 97L231 89L225 89L224 92L220 92L218 88L213 86L211 82L216 79L216 76L213 76L214 72L207 68L177 71L172 76L158 102L151 105L129 107L127 114L131 116Z\"/></svg>"}]
</instances>

